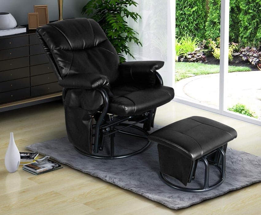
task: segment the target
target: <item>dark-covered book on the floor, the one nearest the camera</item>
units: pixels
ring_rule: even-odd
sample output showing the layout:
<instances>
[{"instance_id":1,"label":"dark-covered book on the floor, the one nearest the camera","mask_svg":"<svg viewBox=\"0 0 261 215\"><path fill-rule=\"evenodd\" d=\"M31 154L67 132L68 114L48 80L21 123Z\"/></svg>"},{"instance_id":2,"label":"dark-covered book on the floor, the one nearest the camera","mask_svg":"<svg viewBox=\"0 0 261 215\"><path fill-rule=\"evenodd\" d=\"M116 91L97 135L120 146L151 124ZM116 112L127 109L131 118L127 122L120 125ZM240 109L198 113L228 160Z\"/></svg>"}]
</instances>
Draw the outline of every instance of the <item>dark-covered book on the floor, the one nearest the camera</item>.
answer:
<instances>
[{"instance_id":1,"label":"dark-covered book on the floor, the one nearest the camera","mask_svg":"<svg viewBox=\"0 0 261 215\"><path fill-rule=\"evenodd\" d=\"M44 172L53 171L53 170L60 169L60 168L62 168L61 164L54 162L52 160L48 160L44 164L38 164L37 162L33 162L33 163L25 164L23 166L24 170L31 172L35 175L38 175L38 174L44 173Z\"/></svg>"}]
</instances>

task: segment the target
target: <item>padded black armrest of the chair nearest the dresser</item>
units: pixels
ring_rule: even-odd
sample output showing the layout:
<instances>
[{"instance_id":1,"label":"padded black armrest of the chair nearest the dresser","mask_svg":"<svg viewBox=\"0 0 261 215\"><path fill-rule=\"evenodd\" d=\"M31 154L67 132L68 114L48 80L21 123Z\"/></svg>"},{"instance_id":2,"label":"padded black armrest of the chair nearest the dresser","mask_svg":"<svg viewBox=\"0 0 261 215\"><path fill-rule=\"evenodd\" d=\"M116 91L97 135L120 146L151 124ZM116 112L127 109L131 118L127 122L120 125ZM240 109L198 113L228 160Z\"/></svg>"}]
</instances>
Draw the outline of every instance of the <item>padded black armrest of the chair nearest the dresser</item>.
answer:
<instances>
[{"instance_id":1,"label":"padded black armrest of the chair nearest the dresser","mask_svg":"<svg viewBox=\"0 0 261 215\"><path fill-rule=\"evenodd\" d=\"M94 73L77 73L64 77L58 83L64 88L97 89L102 86L109 86L109 78Z\"/></svg>"}]
</instances>

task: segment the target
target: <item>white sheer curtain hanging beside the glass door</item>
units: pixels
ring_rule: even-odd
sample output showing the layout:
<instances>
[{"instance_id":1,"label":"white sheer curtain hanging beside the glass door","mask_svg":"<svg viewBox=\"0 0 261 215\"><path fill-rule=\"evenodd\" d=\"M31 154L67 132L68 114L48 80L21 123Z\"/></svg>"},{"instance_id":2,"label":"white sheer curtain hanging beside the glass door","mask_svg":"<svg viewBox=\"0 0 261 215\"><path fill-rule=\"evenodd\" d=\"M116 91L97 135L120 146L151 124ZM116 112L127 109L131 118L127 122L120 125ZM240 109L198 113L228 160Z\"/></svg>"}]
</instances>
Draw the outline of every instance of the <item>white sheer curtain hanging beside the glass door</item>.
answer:
<instances>
[{"instance_id":1,"label":"white sheer curtain hanging beside the glass door","mask_svg":"<svg viewBox=\"0 0 261 215\"><path fill-rule=\"evenodd\" d=\"M173 86L175 44L175 0L136 0L137 7L130 7L142 18L138 23L128 20L130 27L139 33L142 47L129 43L136 60L161 60L165 65L158 72L162 75L164 85ZM172 27L171 27L172 26ZM133 58L127 56L128 61Z\"/></svg>"}]
</instances>

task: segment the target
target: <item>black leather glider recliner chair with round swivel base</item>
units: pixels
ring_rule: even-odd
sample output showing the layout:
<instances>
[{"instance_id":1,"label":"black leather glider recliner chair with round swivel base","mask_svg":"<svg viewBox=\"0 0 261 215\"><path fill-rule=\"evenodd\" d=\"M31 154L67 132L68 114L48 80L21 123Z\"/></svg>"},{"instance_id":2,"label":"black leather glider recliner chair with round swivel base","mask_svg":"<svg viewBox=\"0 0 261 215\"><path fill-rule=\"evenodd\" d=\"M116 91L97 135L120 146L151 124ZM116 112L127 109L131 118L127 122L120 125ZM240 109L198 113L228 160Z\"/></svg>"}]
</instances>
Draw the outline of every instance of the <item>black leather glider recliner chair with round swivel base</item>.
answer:
<instances>
[{"instance_id":1,"label":"black leather glider recliner chair with round swivel base","mask_svg":"<svg viewBox=\"0 0 261 215\"><path fill-rule=\"evenodd\" d=\"M153 127L156 108L174 97L174 90L163 86L156 71L164 62L119 64L115 48L92 19L53 22L37 28L37 36L64 88L66 130L74 147L102 159L129 157L145 150L150 144L147 131ZM121 124L124 121L128 124ZM143 128L134 126L138 123ZM130 126L143 134L129 132ZM144 138L146 145L135 152L115 155L115 133ZM105 147L107 136L110 152L104 155L99 151Z\"/></svg>"}]
</instances>

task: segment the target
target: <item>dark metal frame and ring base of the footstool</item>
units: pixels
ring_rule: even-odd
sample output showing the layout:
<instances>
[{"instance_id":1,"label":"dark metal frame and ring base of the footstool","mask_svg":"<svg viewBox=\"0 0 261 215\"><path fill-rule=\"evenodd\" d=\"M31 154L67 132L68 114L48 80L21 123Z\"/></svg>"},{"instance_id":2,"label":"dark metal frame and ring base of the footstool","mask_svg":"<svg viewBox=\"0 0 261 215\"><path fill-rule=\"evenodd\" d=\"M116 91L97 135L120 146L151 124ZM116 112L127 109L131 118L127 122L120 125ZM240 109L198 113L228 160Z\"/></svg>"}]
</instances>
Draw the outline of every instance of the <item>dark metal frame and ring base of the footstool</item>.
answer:
<instances>
[{"instance_id":1,"label":"dark metal frame and ring base of the footstool","mask_svg":"<svg viewBox=\"0 0 261 215\"><path fill-rule=\"evenodd\" d=\"M210 161L208 160L208 156L212 153L216 153L215 154L215 159L214 161ZM204 186L203 188L186 188L186 187L180 187L178 185L173 184L172 182L170 182L166 177L165 174L160 172L160 177L161 179L170 187L173 187L176 190L180 190L180 191L185 191L185 192L193 192L193 193L197 193L197 192L205 192L208 190L212 190L216 187L218 187L221 183L224 182L224 179L226 177L225 175L225 170L226 170L226 154L223 150L223 146L219 147L218 149L213 150L212 152L202 156L201 158L195 160L193 162L190 174L189 174L189 179L188 179L188 183L190 183L194 178L195 178L195 172L196 172L196 168L197 168L197 162L198 161L203 161L205 164L205 179L204 179ZM221 162L222 160L222 162ZM209 187L209 163L213 164L216 168L218 168L218 170L220 171L220 180ZM222 164L220 164L222 163Z\"/></svg>"}]
</instances>

